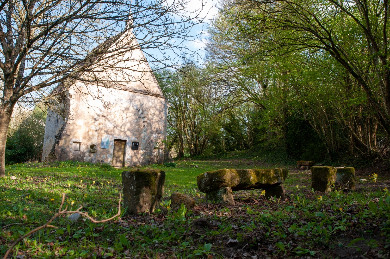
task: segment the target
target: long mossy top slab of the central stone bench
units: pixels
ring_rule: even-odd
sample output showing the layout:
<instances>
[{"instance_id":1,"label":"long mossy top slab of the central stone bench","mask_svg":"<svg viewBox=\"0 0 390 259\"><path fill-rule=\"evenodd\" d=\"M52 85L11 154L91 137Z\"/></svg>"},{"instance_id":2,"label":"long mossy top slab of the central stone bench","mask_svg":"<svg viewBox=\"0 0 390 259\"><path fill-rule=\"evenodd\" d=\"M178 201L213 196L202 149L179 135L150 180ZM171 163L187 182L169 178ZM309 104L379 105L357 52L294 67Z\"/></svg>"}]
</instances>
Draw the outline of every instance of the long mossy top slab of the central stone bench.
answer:
<instances>
[{"instance_id":1,"label":"long mossy top slab of the central stone bench","mask_svg":"<svg viewBox=\"0 0 390 259\"><path fill-rule=\"evenodd\" d=\"M284 183L287 169L219 169L197 176L198 189L201 192L213 192L222 187L231 187L232 191L254 190Z\"/></svg>"}]
</instances>

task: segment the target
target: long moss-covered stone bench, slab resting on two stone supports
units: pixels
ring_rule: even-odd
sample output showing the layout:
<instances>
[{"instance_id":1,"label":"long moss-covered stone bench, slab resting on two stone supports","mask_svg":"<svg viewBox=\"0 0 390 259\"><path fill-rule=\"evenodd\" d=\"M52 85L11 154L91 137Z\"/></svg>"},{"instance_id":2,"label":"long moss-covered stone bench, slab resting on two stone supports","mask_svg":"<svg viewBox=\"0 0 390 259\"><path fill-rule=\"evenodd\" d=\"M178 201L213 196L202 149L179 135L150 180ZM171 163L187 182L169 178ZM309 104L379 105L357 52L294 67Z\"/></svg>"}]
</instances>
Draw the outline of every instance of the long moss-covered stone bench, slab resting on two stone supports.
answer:
<instances>
[{"instance_id":1,"label":"long moss-covered stone bench, slab resting on two stone supports","mask_svg":"<svg viewBox=\"0 0 390 259\"><path fill-rule=\"evenodd\" d=\"M219 169L197 176L198 189L207 200L234 205L233 191L263 189L266 198L285 197L287 169Z\"/></svg>"}]
</instances>

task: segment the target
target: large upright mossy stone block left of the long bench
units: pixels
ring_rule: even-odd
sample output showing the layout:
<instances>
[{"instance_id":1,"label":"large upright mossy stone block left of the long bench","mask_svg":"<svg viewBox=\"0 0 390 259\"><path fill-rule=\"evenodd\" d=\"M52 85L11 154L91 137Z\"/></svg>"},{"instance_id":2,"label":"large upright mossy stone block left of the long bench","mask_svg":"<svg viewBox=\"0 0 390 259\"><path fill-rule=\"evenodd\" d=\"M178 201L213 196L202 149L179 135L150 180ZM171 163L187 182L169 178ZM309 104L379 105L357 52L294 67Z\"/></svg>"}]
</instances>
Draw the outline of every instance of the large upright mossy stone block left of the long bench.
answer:
<instances>
[{"instance_id":1,"label":"large upright mossy stone block left of the long bench","mask_svg":"<svg viewBox=\"0 0 390 259\"><path fill-rule=\"evenodd\" d=\"M164 195L165 172L158 169L137 169L122 172L123 205L130 215L154 211Z\"/></svg>"}]
</instances>

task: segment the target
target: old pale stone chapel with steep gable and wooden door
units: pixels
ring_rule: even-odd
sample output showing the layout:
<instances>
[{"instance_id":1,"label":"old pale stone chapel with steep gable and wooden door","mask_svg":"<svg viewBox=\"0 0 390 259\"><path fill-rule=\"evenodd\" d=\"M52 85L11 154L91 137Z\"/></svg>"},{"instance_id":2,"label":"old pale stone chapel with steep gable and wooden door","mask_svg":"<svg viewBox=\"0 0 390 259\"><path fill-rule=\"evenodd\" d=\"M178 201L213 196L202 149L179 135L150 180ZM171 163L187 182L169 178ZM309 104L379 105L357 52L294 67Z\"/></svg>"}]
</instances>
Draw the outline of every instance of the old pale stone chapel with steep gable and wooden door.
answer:
<instances>
[{"instance_id":1,"label":"old pale stone chapel with steep gable and wooden door","mask_svg":"<svg viewBox=\"0 0 390 259\"><path fill-rule=\"evenodd\" d=\"M137 44L131 33L117 41ZM74 81L51 92L66 100L69 116L62 118L48 111L43 160L100 162L115 167L163 162L167 102L142 50L132 49L121 60L108 62L115 64L115 69L103 72L115 78L111 86Z\"/></svg>"}]
</instances>

